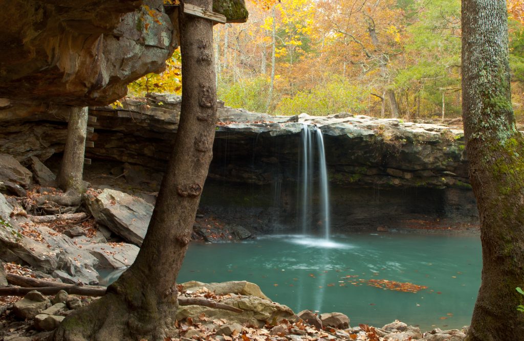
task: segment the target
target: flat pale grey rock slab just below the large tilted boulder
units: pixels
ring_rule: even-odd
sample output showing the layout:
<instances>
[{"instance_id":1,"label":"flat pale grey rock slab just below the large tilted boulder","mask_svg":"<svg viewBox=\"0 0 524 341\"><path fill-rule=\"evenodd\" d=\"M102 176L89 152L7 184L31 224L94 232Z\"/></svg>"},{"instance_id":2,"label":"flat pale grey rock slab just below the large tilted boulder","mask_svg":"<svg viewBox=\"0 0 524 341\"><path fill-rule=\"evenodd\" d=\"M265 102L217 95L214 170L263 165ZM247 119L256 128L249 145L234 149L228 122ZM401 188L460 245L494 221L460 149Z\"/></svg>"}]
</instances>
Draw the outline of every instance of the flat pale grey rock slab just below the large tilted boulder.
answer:
<instances>
[{"instance_id":1,"label":"flat pale grey rock slab just below the large tilted boulder","mask_svg":"<svg viewBox=\"0 0 524 341\"><path fill-rule=\"evenodd\" d=\"M92 244L83 247L99 260L98 269L129 267L135 261L140 248L133 244Z\"/></svg>"}]
</instances>

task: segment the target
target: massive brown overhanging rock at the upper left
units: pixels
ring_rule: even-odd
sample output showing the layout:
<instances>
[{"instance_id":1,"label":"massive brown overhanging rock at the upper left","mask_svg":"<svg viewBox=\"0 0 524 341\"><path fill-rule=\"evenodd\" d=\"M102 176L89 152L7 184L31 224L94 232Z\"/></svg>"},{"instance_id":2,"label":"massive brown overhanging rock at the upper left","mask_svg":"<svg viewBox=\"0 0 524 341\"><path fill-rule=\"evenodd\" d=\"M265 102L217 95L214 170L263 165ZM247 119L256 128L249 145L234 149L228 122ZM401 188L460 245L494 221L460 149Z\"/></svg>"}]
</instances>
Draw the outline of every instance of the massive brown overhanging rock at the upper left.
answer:
<instances>
[{"instance_id":1,"label":"massive brown overhanging rock at the upper left","mask_svg":"<svg viewBox=\"0 0 524 341\"><path fill-rule=\"evenodd\" d=\"M0 97L15 105L26 98L114 102L129 82L161 69L178 45L178 25L162 0L18 0L4 6L0 19L0 43L9 47L0 55Z\"/></svg>"}]
</instances>

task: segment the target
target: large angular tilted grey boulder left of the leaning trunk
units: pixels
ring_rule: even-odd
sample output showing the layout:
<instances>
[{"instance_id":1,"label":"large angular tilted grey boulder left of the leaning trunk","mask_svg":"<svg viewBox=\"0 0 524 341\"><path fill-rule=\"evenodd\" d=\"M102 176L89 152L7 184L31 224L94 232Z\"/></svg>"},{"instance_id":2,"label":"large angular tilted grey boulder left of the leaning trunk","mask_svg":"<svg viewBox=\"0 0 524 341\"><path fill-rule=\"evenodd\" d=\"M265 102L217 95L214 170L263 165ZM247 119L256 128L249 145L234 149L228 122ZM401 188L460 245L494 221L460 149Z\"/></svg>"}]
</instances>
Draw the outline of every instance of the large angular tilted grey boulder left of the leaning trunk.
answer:
<instances>
[{"instance_id":1,"label":"large angular tilted grey boulder left of the leaning trunk","mask_svg":"<svg viewBox=\"0 0 524 341\"><path fill-rule=\"evenodd\" d=\"M96 197L87 195L86 204L98 223L129 243L142 244L153 213L151 204L111 189L104 189Z\"/></svg>"}]
</instances>

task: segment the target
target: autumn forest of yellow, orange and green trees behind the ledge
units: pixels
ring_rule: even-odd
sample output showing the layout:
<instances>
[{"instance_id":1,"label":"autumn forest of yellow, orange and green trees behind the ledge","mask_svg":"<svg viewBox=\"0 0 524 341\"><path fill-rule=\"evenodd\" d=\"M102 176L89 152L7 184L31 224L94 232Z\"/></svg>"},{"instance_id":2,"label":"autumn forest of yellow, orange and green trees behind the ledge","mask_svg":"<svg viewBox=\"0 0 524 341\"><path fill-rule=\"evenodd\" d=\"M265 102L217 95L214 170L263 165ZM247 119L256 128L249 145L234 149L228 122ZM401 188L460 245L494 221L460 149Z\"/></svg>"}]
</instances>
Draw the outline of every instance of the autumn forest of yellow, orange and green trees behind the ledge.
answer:
<instances>
[{"instance_id":1,"label":"autumn forest of yellow, orange and green trees behind the ledge","mask_svg":"<svg viewBox=\"0 0 524 341\"><path fill-rule=\"evenodd\" d=\"M219 99L275 115L461 115L460 0L248 1L244 24L214 28ZM524 114L522 4L508 1L512 103ZM150 91L180 92L180 55ZM130 85L144 94L146 80Z\"/></svg>"}]
</instances>

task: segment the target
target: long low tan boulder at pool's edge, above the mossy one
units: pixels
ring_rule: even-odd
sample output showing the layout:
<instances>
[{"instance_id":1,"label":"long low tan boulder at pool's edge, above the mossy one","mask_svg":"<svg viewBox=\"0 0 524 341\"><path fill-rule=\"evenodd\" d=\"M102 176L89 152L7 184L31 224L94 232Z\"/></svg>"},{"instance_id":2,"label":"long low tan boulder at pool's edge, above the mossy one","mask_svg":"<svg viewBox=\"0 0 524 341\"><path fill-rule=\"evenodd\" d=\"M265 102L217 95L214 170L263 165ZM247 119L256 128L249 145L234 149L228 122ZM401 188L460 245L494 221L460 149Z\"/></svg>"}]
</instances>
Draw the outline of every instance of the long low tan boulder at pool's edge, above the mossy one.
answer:
<instances>
[{"instance_id":1,"label":"long low tan boulder at pool's edge, above the mossy one","mask_svg":"<svg viewBox=\"0 0 524 341\"><path fill-rule=\"evenodd\" d=\"M182 285L182 290L184 291L196 291L206 288L209 291L214 292L216 295L237 294L244 296L256 296L258 298L271 301L268 296L266 296L260 290L260 287L257 284L247 281L229 281L222 283L202 283L197 281L189 281L180 285Z\"/></svg>"}]
</instances>

